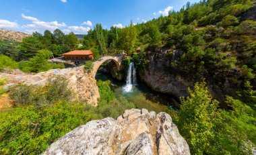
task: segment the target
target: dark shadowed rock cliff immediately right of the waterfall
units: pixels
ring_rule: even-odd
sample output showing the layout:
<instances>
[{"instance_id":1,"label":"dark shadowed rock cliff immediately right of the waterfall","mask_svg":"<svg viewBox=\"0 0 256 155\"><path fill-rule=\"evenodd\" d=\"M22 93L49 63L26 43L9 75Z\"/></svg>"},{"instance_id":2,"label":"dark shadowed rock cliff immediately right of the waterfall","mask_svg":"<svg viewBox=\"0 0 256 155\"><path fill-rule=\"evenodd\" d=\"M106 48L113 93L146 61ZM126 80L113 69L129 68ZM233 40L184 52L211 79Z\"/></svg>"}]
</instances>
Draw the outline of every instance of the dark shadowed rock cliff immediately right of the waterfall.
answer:
<instances>
[{"instance_id":1,"label":"dark shadowed rock cliff immediately right of the waterfall","mask_svg":"<svg viewBox=\"0 0 256 155\"><path fill-rule=\"evenodd\" d=\"M148 67L138 68L139 79L154 91L172 94L176 97L187 96L187 88L193 87L193 80L177 72L172 72L170 67L172 57L168 55L168 51L149 54L147 57L150 60Z\"/></svg>"}]
</instances>

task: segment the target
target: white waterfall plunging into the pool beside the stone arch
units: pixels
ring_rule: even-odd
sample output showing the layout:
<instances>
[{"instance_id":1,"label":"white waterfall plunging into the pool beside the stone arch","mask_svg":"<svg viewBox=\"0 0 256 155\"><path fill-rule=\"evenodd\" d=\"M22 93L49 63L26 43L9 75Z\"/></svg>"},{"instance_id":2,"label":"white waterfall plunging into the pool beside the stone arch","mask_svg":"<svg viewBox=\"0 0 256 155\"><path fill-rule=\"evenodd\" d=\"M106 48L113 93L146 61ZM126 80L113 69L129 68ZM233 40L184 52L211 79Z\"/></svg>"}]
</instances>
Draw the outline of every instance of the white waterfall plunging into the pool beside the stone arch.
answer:
<instances>
[{"instance_id":1,"label":"white waterfall plunging into the pool beside the stone arch","mask_svg":"<svg viewBox=\"0 0 256 155\"><path fill-rule=\"evenodd\" d=\"M134 85L137 85L136 68L134 66L134 63L131 62L127 71L126 85L125 87L123 87L123 91L125 93L130 92L133 89Z\"/></svg>"}]
</instances>

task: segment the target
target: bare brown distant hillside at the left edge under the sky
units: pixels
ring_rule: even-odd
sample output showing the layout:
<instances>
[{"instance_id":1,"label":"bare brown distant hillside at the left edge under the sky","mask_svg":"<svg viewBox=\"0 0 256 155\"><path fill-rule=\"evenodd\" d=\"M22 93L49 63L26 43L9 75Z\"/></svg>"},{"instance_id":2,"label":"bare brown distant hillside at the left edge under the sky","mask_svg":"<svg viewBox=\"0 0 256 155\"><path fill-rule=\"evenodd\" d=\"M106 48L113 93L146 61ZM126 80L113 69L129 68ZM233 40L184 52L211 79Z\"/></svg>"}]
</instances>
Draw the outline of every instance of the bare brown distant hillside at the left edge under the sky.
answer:
<instances>
[{"instance_id":1,"label":"bare brown distant hillside at the left edge under the sky","mask_svg":"<svg viewBox=\"0 0 256 155\"><path fill-rule=\"evenodd\" d=\"M23 38L31 36L30 34L24 34L22 32L15 32L12 30L6 30L0 28L0 40L14 40L16 42L22 42Z\"/></svg>"}]
</instances>

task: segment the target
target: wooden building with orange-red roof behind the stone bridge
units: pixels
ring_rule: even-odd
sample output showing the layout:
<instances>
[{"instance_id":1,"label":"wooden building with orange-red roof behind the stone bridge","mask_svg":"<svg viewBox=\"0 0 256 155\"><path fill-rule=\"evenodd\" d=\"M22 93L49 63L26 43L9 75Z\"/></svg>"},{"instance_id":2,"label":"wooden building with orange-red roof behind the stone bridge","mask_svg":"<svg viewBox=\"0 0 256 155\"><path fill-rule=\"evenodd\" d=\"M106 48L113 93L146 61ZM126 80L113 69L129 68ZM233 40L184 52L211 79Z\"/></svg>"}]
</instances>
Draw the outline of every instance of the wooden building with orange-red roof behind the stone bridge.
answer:
<instances>
[{"instance_id":1,"label":"wooden building with orange-red roof behind the stone bridge","mask_svg":"<svg viewBox=\"0 0 256 155\"><path fill-rule=\"evenodd\" d=\"M94 54L91 50L72 50L63 54L65 60L92 60Z\"/></svg>"}]
</instances>

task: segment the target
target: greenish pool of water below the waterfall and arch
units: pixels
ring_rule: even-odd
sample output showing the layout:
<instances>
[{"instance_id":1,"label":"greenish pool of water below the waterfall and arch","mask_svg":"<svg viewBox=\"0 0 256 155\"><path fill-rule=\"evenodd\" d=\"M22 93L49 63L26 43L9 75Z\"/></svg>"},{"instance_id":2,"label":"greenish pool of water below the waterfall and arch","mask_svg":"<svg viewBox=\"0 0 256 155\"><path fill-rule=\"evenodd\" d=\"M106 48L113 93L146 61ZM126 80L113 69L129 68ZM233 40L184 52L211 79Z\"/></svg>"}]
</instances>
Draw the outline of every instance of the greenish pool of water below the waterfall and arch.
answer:
<instances>
[{"instance_id":1,"label":"greenish pool of water below the waterfall and arch","mask_svg":"<svg viewBox=\"0 0 256 155\"><path fill-rule=\"evenodd\" d=\"M148 111L156 111L156 113L164 111L169 113L172 117L176 115L173 104L174 97L152 91L144 83L139 83L137 86L134 86L130 93L124 93L123 87L126 83L113 79L108 74L97 73L96 80L108 83L117 98L125 97L138 109L145 108L148 109Z\"/></svg>"}]
</instances>

